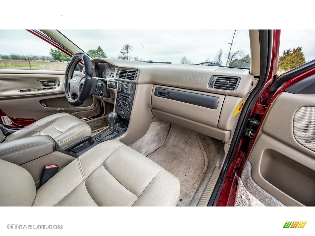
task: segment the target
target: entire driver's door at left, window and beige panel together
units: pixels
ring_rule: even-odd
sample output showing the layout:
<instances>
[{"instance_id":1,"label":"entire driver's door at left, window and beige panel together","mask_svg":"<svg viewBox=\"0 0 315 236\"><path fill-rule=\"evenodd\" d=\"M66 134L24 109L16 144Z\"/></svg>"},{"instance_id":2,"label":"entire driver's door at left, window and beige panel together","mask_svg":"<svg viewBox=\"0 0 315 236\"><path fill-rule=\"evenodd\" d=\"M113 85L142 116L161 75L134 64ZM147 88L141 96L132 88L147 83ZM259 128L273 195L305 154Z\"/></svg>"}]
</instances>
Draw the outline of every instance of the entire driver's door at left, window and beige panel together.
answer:
<instances>
[{"instance_id":1,"label":"entire driver's door at left, window and beige panel together","mask_svg":"<svg viewBox=\"0 0 315 236\"><path fill-rule=\"evenodd\" d=\"M3 125L27 126L60 112L78 118L100 114L99 100L95 97L90 96L77 107L68 103L63 92L67 61L56 61L51 56L51 52L59 51L57 48L22 30L1 31L1 38L0 115Z\"/></svg>"}]
</instances>

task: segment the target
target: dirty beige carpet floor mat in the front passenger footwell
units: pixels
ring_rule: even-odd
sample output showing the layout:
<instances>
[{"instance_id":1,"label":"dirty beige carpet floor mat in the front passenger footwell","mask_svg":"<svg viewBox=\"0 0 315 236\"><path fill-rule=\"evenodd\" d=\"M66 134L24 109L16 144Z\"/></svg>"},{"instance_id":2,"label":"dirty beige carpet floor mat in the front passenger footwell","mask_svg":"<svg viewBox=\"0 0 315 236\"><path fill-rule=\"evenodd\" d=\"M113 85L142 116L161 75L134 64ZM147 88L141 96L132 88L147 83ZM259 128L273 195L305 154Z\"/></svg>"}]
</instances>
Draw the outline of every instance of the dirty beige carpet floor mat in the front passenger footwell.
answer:
<instances>
[{"instance_id":1,"label":"dirty beige carpet floor mat in the front passenger footwell","mask_svg":"<svg viewBox=\"0 0 315 236\"><path fill-rule=\"evenodd\" d=\"M147 157L179 179L181 200L177 206L188 206L208 166L198 133L171 125L165 143Z\"/></svg>"}]
</instances>

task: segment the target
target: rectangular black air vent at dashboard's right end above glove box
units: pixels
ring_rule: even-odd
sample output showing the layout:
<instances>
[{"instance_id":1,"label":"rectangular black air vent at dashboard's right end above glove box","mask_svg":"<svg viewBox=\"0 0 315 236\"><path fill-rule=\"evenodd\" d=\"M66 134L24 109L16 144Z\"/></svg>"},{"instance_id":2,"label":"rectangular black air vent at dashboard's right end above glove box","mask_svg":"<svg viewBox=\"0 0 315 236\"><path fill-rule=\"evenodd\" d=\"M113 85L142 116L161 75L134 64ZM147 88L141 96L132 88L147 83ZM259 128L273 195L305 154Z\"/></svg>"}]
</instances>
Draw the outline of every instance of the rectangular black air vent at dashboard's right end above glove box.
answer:
<instances>
[{"instance_id":1,"label":"rectangular black air vent at dashboard's right end above glove box","mask_svg":"<svg viewBox=\"0 0 315 236\"><path fill-rule=\"evenodd\" d=\"M235 91L239 81L239 77L212 76L208 87L220 90Z\"/></svg>"}]
</instances>

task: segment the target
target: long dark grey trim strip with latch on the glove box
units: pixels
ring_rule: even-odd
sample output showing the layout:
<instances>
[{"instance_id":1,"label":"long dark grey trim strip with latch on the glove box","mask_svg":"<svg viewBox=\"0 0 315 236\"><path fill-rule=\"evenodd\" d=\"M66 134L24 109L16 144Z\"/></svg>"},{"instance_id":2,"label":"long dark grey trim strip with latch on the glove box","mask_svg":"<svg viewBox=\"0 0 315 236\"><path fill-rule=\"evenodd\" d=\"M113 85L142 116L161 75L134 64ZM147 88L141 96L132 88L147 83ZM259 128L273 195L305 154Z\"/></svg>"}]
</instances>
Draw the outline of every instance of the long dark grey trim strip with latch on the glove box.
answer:
<instances>
[{"instance_id":1,"label":"long dark grey trim strip with latch on the glove box","mask_svg":"<svg viewBox=\"0 0 315 236\"><path fill-rule=\"evenodd\" d=\"M163 93L159 93L158 91L162 91L165 96L163 96ZM161 88L156 87L154 91L154 96L161 97L161 98L167 98L179 102L189 103L201 107L206 107L210 109L217 109L219 104L219 98L198 94L198 93L190 93L190 92L184 92L174 89L168 89L168 88Z\"/></svg>"}]
</instances>

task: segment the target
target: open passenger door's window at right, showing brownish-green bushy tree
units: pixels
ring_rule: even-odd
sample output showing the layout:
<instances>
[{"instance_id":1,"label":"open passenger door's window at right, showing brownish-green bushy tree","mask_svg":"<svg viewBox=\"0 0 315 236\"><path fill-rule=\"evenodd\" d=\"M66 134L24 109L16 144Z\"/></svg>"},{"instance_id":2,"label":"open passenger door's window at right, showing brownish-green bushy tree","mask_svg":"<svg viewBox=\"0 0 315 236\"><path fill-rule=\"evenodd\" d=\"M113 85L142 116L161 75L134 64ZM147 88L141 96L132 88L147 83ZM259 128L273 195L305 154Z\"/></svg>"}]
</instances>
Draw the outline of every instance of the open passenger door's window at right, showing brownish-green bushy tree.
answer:
<instances>
[{"instance_id":1,"label":"open passenger door's window at right, showing brownish-green bushy tree","mask_svg":"<svg viewBox=\"0 0 315 236\"><path fill-rule=\"evenodd\" d=\"M314 30L281 30L278 76L315 59Z\"/></svg>"}]
</instances>

